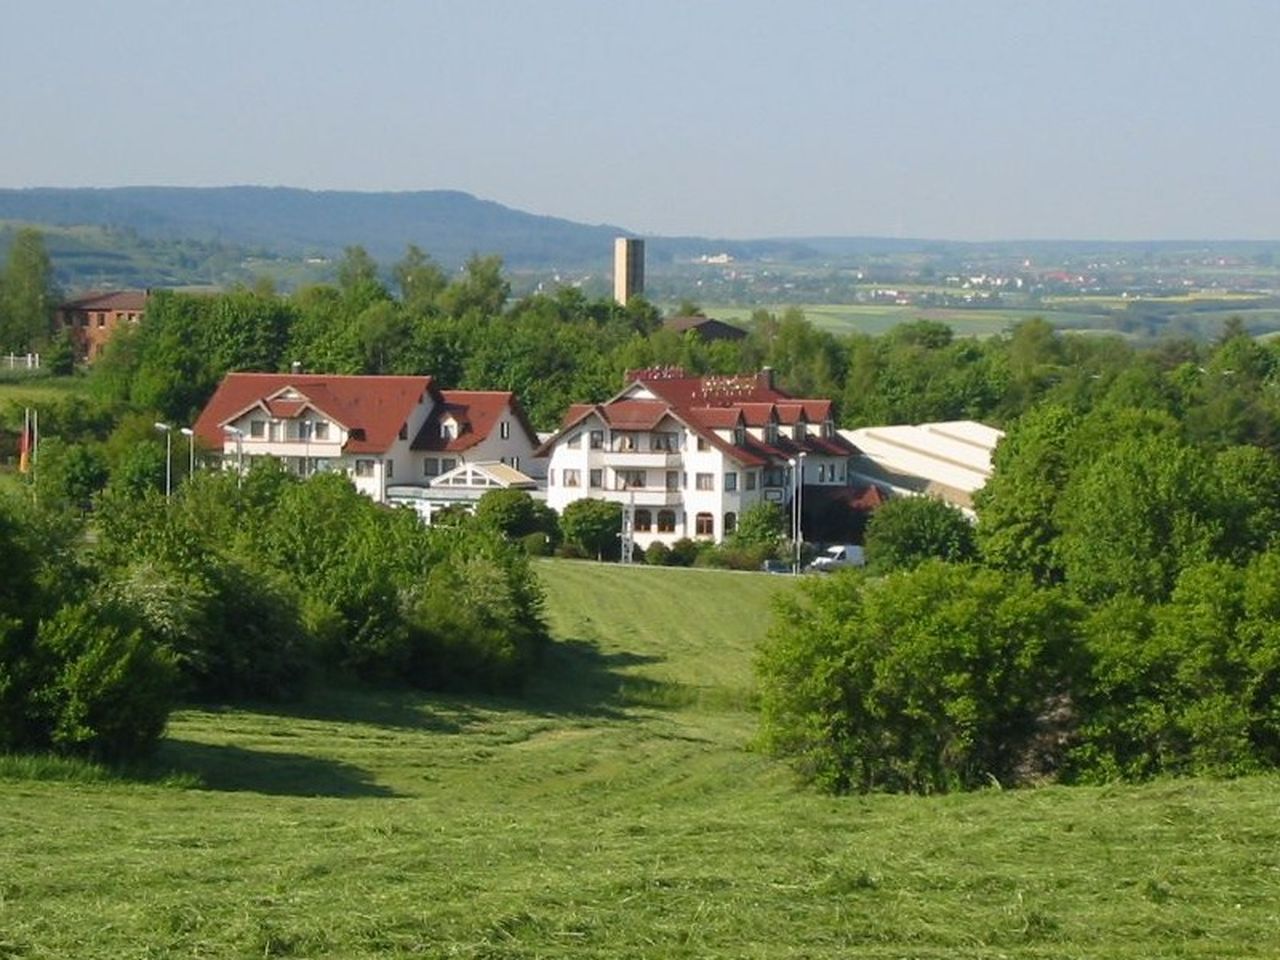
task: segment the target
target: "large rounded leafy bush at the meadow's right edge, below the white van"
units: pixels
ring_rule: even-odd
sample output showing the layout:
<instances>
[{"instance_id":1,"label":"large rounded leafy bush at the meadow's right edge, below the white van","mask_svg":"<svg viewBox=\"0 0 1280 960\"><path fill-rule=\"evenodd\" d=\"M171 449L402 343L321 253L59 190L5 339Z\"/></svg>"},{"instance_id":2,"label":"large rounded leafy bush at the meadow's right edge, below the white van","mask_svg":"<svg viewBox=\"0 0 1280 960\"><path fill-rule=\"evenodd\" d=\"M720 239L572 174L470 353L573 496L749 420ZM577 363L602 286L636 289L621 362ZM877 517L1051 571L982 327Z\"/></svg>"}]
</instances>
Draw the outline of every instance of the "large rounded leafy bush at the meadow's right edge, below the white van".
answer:
<instances>
[{"instance_id":1,"label":"large rounded leafy bush at the meadow's right edge, below the white van","mask_svg":"<svg viewBox=\"0 0 1280 960\"><path fill-rule=\"evenodd\" d=\"M1029 579L937 561L808 581L760 654L764 740L836 792L1033 776L1074 618Z\"/></svg>"}]
</instances>

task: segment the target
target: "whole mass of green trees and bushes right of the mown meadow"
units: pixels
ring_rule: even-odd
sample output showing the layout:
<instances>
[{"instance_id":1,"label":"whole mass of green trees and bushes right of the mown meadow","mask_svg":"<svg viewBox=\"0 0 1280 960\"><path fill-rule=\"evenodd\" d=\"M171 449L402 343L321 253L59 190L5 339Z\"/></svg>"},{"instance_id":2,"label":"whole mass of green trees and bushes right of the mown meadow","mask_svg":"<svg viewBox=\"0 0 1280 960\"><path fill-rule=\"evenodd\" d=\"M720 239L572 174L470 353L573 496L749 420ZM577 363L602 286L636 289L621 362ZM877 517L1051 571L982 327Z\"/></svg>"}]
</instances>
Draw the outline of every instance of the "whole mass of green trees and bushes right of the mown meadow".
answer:
<instances>
[{"instance_id":1,"label":"whole mass of green trees and bushes right of the mown meadow","mask_svg":"<svg viewBox=\"0 0 1280 960\"><path fill-rule=\"evenodd\" d=\"M890 503L869 573L785 602L768 742L837 791L1276 767L1280 461L1231 439L1111 397L1034 406L968 535Z\"/></svg>"}]
</instances>

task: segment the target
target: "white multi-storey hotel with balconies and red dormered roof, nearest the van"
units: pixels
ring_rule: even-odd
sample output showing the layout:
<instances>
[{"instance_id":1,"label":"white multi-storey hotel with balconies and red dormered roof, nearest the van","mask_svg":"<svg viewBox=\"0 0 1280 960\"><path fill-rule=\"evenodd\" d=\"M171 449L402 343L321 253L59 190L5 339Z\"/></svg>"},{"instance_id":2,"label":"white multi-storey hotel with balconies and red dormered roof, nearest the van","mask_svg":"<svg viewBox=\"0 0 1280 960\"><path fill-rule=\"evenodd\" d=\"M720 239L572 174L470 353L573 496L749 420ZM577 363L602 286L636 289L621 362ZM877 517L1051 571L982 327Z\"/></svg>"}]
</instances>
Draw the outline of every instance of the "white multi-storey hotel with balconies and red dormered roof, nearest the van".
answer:
<instances>
[{"instance_id":1,"label":"white multi-storey hotel with balconies and red dormered roof, nearest the van","mask_svg":"<svg viewBox=\"0 0 1280 960\"><path fill-rule=\"evenodd\" d=\"M831 401L797 399L754 376L636 370L612 399L570 408L539 453L547 503L585 497L627 507L640 547L723 540L760 502L787 508L796 480L845 486L856 448L835 428Z\"/></svg>"}]
</instances>

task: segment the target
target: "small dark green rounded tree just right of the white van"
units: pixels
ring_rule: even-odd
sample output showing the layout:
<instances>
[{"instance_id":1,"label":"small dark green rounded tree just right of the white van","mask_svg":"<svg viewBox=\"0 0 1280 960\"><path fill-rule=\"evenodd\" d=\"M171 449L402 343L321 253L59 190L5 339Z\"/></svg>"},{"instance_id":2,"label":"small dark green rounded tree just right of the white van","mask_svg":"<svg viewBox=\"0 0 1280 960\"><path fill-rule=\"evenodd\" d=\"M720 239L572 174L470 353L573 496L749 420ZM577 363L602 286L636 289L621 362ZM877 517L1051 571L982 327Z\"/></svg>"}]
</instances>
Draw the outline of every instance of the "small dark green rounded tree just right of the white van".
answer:
<instances>
[{"instance_id":1,"label":"small dark green rounded tree just right of the white van","mask_svg":"<svg viewBox=\"0 0 1280 960\"><path fill-rule=\"evenodd\" d=\"M867 525L865 548L872 573L911 570L927 559L965 563L977 557L973 525L957 508L932 497L897 497L878 507Z\"/></svg>"}]
</instances>

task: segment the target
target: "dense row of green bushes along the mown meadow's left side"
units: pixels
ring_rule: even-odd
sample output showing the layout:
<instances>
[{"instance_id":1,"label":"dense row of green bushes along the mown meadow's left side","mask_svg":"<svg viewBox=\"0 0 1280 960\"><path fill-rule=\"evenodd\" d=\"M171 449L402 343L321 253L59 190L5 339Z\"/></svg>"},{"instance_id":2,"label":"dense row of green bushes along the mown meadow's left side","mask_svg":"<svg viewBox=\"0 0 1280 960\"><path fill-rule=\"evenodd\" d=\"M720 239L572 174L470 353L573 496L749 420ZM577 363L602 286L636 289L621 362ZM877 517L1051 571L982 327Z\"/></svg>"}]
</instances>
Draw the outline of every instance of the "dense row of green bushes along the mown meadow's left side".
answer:
<instances>
[{"instance_id":1,"label":"dense row of green bushes along the mown meadow's left side","mask_svg":"<svg viewBox=\"0 0 1280 960\"><path fill-rule=\"evenodd\" d=\"M180 698L282 698L315 676L508 689L545 639L518 547L426 529L344 477L204 472L0 504L0 751L150 749Z\"/></svg>"}]
</instances>

